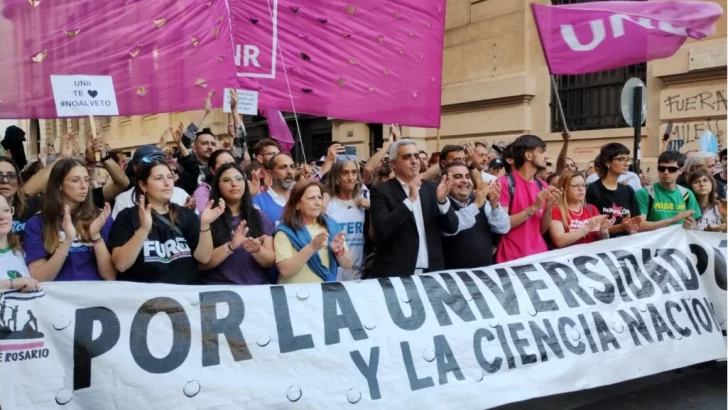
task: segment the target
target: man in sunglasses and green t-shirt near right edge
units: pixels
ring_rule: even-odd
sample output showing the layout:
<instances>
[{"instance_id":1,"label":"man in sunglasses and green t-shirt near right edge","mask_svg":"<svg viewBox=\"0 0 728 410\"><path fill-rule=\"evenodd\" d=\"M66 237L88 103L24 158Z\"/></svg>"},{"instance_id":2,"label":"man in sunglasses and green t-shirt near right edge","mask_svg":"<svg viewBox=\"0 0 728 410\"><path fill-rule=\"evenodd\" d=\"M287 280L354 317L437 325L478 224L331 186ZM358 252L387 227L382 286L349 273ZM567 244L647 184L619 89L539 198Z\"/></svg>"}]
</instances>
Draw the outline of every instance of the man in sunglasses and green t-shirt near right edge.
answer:
<instances>
[{"instance_id":1,"label":"man in sunglasses and green t-shirt near right edge","mask_svg":"<svg viewBox=\"0 0 728 410\"><path fill-rule=\"evenodd\" d=\"M665 151L657 159L659 181L637 191L637 204L642 215L642 231L654 231L682 223L686 229L695 226L701 212L692 191L677 184L682 173L678 160L680 153Z\"/></svg>"}]
</instances>

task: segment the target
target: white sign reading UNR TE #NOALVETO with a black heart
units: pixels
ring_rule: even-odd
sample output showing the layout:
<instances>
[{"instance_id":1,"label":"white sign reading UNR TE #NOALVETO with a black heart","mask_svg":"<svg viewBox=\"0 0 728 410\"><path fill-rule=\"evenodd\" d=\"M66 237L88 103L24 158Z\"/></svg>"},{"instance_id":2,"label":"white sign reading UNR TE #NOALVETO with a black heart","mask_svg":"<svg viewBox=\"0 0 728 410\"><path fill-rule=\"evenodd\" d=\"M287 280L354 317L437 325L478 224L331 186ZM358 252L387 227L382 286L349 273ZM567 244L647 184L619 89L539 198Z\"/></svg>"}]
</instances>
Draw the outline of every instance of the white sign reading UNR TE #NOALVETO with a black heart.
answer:
<instances>
[{"instance_id":1,"label":"white sign reading UNR TE #NOALVETO with a black heart","mask_svg":"<svg viewBox=\"0 0 728 410\"><path fill-rule=\"evenodd\" d=\"M114 81L108 75L52 75L59 117L119 115Z\"/></svg>"}]
</instances>

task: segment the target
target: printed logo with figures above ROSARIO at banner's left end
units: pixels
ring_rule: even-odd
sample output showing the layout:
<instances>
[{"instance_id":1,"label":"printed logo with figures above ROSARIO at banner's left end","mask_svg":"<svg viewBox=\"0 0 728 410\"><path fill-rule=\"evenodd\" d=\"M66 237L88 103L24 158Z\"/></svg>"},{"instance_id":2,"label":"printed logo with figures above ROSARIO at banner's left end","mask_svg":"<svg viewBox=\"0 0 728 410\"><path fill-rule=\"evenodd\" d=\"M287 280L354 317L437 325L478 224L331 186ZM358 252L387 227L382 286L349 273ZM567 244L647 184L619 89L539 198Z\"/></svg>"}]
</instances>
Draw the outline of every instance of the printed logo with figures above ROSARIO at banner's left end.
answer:
<instances>
[{"instance_id":1,"label":"printed logo with figures above ROSARIO at banner's left end","mask_svg":"<svg viewBox=\"0 0 728 410\"><path fill-rule=\"evenodd\" d=\"M0 293L0 366L6 362L20 362L48 357L45 334L38 327L38 319L30 307L32 300L45 297L43 292Z\"/></svg>"}]
</instances>

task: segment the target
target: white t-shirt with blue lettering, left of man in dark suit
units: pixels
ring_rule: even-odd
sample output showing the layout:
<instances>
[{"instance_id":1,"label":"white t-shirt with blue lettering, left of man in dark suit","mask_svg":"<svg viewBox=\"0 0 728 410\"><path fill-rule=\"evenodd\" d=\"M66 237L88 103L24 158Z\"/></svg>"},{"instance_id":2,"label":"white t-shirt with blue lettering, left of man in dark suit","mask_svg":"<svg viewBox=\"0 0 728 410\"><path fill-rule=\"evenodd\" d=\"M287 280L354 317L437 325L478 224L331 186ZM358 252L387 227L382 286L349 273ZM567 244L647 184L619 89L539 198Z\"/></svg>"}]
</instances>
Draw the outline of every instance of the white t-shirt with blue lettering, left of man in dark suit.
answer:
<instances>
[{"instance_id":1,"label":"white t-shirt with blue lettering, left of man in dark suit","mask_svg":"<svg viewBox=\"0 0 728 410\"><path fill-rule=\"evenodd\" d=\"M368 197L368 191L362 192ZM351 252L351 269L339 267L336 274L337 281L361 279L364 272L364 209L356 206L356 201L341 201L336 198L329 200L326 214L335 220L346 236L346 245Z\"/></svg>"}]
</instances>

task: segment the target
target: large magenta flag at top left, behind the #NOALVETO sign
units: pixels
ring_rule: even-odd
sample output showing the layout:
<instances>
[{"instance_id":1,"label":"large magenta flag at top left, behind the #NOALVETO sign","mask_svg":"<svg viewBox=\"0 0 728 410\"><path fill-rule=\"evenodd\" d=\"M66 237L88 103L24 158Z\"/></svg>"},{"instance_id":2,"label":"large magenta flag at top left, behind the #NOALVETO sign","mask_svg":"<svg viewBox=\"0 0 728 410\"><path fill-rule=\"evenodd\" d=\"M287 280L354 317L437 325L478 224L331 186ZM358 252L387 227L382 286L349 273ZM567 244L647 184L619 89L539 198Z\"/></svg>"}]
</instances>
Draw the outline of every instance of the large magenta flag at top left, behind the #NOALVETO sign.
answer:
<instances>
[{"instance_id":1,"label":"large magenta flag at top left, behind the #NOALVETO sign","mask_svg":"<svg viewBox=\"0 0 728 410\"><path fill-rule=\"evenodd\" d=\"M225 0L0 2L0 118L55 118L51 75L110 75L120 115L202 108L235 84Z\"/></svg>"}]
</instances>

